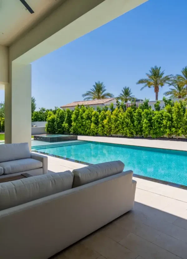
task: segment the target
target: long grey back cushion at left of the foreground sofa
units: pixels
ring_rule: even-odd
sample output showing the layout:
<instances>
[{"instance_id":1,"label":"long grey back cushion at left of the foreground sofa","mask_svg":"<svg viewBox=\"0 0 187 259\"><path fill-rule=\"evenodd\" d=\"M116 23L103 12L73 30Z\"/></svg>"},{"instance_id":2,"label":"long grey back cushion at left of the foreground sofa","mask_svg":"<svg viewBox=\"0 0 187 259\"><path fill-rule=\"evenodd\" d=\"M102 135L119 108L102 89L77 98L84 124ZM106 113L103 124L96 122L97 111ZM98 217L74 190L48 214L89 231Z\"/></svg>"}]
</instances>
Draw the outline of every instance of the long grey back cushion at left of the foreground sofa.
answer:
<instances>
[{"instance_id":1,"label":"long grey back cushion at left of the foreground sofa","mask_svg":"<svg viewBox=\"0 0 187 259\"><path fill-rule=\"evenodd\" d=\"M0 183L0 210L71 189L73 178L73 173L65 171Z\"/></svg>"}]
</instances>

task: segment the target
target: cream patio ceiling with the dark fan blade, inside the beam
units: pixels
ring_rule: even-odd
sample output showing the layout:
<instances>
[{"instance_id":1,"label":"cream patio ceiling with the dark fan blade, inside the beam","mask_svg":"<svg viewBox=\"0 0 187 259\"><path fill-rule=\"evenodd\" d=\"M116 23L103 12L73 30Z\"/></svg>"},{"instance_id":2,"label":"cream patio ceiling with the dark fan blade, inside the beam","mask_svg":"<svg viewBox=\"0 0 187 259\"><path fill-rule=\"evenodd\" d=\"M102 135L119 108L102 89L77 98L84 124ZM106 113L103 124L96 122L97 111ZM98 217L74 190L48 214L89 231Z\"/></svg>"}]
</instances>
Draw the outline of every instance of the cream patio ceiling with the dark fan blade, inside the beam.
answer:
<instances>
[{"instance_id":1,"label":"cream patio ceiling with the dark fan blade, inside the beam","mask_svg":"<svg viewBox=\"0 0 187 259\"><path fill-rule=\"evenodd\" d=\"M0 0L0 45L10 46L66 0L26 0L30 13L20 0Z\"/></svg>"}]
</instances>

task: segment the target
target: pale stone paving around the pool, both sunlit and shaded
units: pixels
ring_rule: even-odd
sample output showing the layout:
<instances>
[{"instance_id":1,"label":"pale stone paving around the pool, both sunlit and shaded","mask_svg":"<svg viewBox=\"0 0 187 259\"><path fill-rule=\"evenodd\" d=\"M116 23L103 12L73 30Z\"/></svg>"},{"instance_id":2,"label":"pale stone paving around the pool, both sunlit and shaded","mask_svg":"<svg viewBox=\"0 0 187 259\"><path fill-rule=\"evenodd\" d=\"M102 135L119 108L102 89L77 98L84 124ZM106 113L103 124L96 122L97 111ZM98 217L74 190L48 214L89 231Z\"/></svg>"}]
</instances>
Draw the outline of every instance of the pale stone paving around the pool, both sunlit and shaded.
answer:
<instances>
[{"instance_id":1,"label":"pale stone paving around the pool, both sunlit and shaded","mask_svg":"<svg viewBox=\"0 0 187 259\"><path fill-rule=\"evenodd\" d=\"M79 140L187 151L186 142L79 136ZM49 172L86 165L48 156ZM186 259L187 190L133 177L134 209L51 259Z\"/></svg>"}]
</instances>

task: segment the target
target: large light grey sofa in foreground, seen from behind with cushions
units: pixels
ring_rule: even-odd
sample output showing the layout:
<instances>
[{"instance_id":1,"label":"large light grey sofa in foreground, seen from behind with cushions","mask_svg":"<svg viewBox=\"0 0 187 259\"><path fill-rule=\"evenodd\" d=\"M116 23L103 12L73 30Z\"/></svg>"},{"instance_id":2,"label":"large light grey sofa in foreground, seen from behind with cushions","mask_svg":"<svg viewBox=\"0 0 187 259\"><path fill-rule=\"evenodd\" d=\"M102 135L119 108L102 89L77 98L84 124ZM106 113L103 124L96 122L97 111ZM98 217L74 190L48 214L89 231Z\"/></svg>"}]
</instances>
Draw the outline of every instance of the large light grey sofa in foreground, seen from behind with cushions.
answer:
<instances>
[{"instance_id":1,"label":"large light grey sofa in foreground, seen from behind with cushions","mask_svg":"<svg viewBox=\"0 0 187 259\"><path fill-rule=\"evenodd\" d=\"M0 258L47 259L131 210L136 182L119 162L0 184Z\"/></svg>"}]
</instances>

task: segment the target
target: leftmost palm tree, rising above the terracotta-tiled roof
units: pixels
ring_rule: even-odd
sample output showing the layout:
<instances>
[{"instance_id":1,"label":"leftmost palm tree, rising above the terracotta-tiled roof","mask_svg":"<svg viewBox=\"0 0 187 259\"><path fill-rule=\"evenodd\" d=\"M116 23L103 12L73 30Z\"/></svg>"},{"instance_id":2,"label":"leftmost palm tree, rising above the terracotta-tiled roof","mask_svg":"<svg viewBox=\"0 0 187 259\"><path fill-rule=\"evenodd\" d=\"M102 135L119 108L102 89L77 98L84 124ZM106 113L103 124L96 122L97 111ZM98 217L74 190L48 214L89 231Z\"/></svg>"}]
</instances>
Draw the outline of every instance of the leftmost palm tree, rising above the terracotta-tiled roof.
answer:
<instances>
[{"instance_id":1,"label":"leftmost palm tree, rising above the terracotta-tiled roof","mask_svg":"<svg viewBox=\"0 0 187 259\"><path fill-rule=\"evenodd\" d=\"M106 92L106 86L103 82L95 82L95 85L93 85L93 88L90 89L90 91L87 91L85 94L82 95L84 97L84 100L95 100L95 99L105 99L105 98L112 98L114 97L111 93L105 93Z\"/></svg>"}]
</instances>

